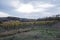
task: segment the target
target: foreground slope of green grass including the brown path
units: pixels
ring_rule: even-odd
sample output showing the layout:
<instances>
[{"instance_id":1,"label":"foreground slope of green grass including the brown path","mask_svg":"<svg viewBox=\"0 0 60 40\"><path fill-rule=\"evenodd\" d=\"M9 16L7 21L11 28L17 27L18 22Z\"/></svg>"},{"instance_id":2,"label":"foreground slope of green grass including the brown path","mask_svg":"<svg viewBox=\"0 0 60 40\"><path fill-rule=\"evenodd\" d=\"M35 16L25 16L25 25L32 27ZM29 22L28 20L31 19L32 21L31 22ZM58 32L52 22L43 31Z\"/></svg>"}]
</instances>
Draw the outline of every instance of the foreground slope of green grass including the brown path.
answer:
<instances>
[{"instance_id":1,"label":"foreground slope of green grass including the brown path","mask_svg":"<svg viewBox=\"0 0 60 40\"><path fill-rule=\"evenodd\" d=\"M59 24L60 22L52 26L57 26ZM60 40L60 29L52 28L51 26L36 26L36 28L33 29L20 29L20 31L12 30L8 35L5 33L2 33L1 35L0 40Z\"/></svg>"}]
</instances>

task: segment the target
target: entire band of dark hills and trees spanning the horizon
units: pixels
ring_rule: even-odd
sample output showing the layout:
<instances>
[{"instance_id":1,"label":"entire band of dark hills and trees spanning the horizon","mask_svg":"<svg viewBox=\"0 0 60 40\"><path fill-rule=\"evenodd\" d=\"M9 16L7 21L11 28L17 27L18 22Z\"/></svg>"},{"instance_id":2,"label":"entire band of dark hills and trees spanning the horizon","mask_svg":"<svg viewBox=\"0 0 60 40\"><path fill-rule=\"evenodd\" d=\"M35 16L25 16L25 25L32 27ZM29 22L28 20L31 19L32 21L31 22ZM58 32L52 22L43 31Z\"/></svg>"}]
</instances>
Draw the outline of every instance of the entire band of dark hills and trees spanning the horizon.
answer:
<instances>
[{"instance_id":1,"label":"entire band of dark hills and trees spanning the horizon","mask_svg":"<svg viewBox=\"0 0 60 40\"><path fill-rule=\"evenodd\" d=\"M60 15L46 17L46 18L39 18L39 19L27 19L27 18L19 18L19 17L0 17L0 22L5 22L5 21L35 22L35 21L52 21L52 20L60 21Z\"/></svg>"}]
</instances>

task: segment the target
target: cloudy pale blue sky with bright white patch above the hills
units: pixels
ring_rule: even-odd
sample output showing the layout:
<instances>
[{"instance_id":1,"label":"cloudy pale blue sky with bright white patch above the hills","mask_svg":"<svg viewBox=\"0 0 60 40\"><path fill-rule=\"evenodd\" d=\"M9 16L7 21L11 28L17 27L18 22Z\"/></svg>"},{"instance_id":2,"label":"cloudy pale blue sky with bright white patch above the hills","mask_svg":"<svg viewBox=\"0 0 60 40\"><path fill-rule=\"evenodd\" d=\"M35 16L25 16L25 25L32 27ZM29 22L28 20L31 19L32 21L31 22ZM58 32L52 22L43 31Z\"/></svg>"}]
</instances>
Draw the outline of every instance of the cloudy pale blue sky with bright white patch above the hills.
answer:
<instances>
[{"instance_id":1,"label":"cloudy pale blue sky with bright white patch above the hills","mask_svg":"<svg viewBox=\"0 0 60 40\"><path fill-rule=\"evenodd\" d=\"M37 19L60 14L60 0L0 0L0 17Z\"/></svg>"}]
</instances>

